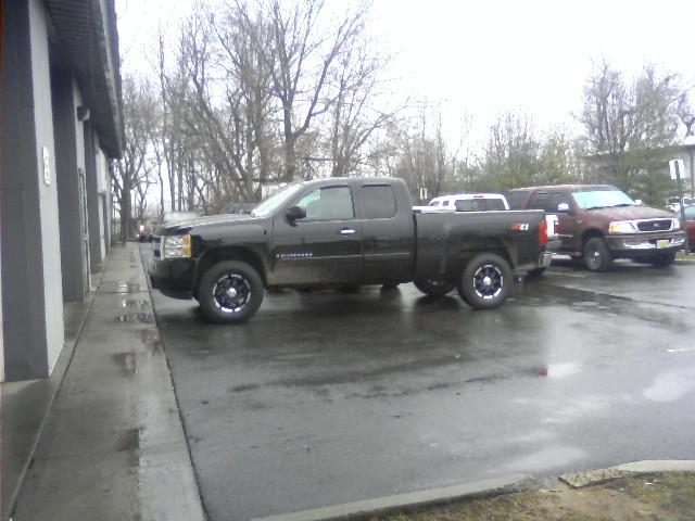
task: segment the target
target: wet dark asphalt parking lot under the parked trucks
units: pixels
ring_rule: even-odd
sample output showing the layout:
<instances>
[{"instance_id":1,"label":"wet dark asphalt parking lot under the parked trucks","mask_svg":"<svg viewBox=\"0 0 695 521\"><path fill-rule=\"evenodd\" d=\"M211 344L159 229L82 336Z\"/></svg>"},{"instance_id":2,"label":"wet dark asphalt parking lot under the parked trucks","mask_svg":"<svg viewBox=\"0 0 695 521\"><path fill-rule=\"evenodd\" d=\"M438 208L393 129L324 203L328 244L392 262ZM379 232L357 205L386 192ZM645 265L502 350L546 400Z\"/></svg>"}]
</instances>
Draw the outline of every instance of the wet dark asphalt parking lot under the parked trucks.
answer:
<instances>
[{"instance_id":1,"label":"wet dark asphalt parking lot under the parked trucks","mask_svg":"<svg viewBox=\"0 0 695 521\"><path fill-rule=\"evenodd\" d=\"M488 312L412 284L267 293L232 327L152 301L215 521L695 459L693 264L558 262Z\"/></svg>"}]
</instances>

